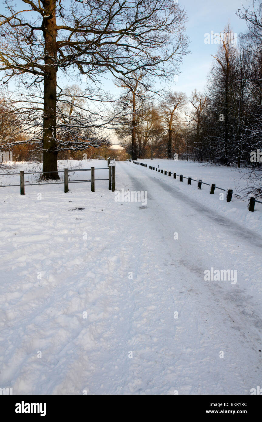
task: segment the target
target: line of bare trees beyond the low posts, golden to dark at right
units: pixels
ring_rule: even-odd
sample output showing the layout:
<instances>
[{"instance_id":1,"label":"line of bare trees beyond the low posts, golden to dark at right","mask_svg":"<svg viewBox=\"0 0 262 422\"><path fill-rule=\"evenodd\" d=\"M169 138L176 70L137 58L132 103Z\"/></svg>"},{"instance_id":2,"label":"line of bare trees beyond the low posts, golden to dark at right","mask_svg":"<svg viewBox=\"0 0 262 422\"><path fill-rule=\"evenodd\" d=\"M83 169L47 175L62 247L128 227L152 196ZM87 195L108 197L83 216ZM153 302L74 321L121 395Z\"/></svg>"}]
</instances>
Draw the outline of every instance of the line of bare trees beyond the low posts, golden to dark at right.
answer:
<instances>
[{"instance_id":1,"label":"line of bare trees beyond the low posts, golden to dark at right","mask_svg":"<svg viewBox=\"0 0 262 422\"><path fill-rule=\"evenodd\" d=\"M178 154L213 164L261 166L261 2L253 0L250 8L239 9L237 14L248 30L238 40L229 26L219 34L205 92L195 90L190 99L182 92L160 92L161 99L155 100L150 89L140 84L142 73L133 75L132 85L123 82L119 107L125 113L116 133L133 159L170 159ZM257 150L260 160L252 160L251 153Z\"/></svg>"}]
</instances>

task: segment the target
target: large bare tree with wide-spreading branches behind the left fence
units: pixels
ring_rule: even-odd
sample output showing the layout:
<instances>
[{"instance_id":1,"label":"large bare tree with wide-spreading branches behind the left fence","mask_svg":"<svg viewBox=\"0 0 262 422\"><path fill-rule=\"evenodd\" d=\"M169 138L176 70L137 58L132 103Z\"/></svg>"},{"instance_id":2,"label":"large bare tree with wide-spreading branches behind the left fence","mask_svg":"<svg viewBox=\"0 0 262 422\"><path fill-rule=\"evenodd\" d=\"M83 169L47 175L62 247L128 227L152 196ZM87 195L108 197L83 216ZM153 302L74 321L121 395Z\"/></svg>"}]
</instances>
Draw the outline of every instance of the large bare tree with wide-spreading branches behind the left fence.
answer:
<instances>
[{"instance_id":1,"label":"large bare tree with wide-spreading branches behind the left fence","mask_svg":"<svg viewBox=\"0 0 262 422\"><path fill-rule=\"evenodd\" d=\"M173 0L21 2L26 5L24 10L5 0L6 13L0 15L2 83L20 77L28 90L43 84L34 111L28 112L31 129L32 121L38 120L31 142L42 142L43 171L56 179L58 75L68 74L70 69L86 75L85 98L91 102L102 101L91 85L99 84L103 76L132 78L133 72L143 70L153 77L165 74L171 78L187 52L186 15ZM94 122L91 109L89 116L86 125L101 127L101 115ZM94 137L89 141L99 145Z\"/></svg>"}]
</instances>

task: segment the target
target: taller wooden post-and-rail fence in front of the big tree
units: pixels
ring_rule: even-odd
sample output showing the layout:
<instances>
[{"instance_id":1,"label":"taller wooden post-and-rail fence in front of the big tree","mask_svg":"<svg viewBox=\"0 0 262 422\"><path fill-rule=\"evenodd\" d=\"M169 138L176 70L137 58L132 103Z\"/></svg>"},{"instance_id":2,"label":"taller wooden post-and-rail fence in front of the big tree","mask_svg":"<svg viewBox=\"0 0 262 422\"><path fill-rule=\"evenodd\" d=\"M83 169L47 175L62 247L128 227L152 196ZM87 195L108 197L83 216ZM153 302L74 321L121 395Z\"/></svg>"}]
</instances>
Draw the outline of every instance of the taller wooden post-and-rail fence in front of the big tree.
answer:
<instances>
[{"instance_id":1,"label":"taller wooden post-and-rail fence in front of the big tree","mask_svg":"<svg viewBox=\"0 0 262 422\"><path fill-rule=\"evenodd\" d=\"M29 171L24 172L20 171L19 173L1 173L0 176L14 176L20 175L20 184L14 185L0 185L0 187L16 187L20 186L20 194L24 195L24 187L25 186L41 186L41 185L49 185L49 184L63 184L65 186L65 193L68 192L68 185L69 183L90 183L91 182L91 191L95 192L95 181L99 180L108 180L108 190L115 191L115 179L116 179L116 162L111 162L111 158L108 158L108 167L100 167L100 168L81 168L81 169L68 169L64 168L64 170L58 171ZM108 178L107 179L95 179L95 170L108 170ZM68 173L75 172L75 171L91 171L91 179L81 179L81 180L69 180ZM64 181L63 182L48 182L48 183L24 183L24 175L25 174L45 174L45 173L64 173Z\"/></svg>"}]
</instances>

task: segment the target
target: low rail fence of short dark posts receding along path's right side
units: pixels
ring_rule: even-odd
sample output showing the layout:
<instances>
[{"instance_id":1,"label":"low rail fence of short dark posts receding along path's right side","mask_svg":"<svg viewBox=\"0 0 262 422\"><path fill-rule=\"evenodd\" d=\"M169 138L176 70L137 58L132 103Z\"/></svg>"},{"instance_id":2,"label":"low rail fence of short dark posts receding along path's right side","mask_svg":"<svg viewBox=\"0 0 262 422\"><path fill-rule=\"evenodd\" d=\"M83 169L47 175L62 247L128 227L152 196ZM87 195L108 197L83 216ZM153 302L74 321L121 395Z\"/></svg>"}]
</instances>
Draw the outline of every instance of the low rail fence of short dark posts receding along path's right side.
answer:
<instances>
[{"instance_id":1,"label":"low rail fence of short dark posts receding along path's right side","mask_svg":"<svg viewBox=\"0 0 262 422\"><path fill-rule=\"evenodd\" d=\"M129 161L131 162L131 160L129 160ZM142 165L143 167L147 167L147 165L143 162L133 161L133 163L138 164L138 165ZM150 165L149 170L154 171L155 168L152 165ZM160 169L160 168L157 169L157 167L156 167L156 171L158 171L161 174L165 174L165 176L167 176L167 175L169 177L171 176L171 171L163 170L163 169ZM227 192L227 195L226 195L227 202L231 202L231 200L232 200L233 189L223 189L221 187L216 186L214 183L212 183L212 184L205 183L205 182L202 181L202 179L196 180L196 179L192 179L192 177L186 177L186 176L183 176L182 174L173 173L173 179L176 179L177 177L179 177L179 180L181 182L183 182L183 179L187 179L187 184L190 184L190 185L191 185L191 181L197 182L198 189L201 189L203 184L206 185L206 186L211 186L210 194L213 194L215 192L215 189L219 189L219 190L222 190L224 192ZM262 201L257 200L254 196L251 195L248 199L248 211L254 211L255 203L262 204Z\"/></svg>"}]
</instances>

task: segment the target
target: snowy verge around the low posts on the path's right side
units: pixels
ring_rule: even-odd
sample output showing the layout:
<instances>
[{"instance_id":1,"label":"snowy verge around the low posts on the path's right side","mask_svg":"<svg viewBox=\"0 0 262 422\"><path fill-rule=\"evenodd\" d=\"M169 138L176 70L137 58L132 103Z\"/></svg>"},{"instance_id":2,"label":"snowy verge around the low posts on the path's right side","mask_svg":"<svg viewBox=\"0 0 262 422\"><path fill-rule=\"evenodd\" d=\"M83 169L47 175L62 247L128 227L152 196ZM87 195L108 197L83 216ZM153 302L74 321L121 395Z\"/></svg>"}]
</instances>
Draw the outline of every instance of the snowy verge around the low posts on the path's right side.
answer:
<instances>
[{"instance_id":1,"label":"snowy verge around the low posts on the path's right side","mask_svg":"<svg viewBox=\"0 0 262 422\"><path fill-rule=\"evenodd\" d=\"M143 168L145 171L152 171L149 169L149 165L167 170L167 172L171 171L171 178L168 178L168 176L165 176L164 174L157 173L159 179L164 179L165 181L167 181L167 178L172 179L169 180L168 183L171 185L175 184L177 189L180 189L181 192L189 195L189 197L192 196L192 199L215 210L221 216L226 216L227 218L232 219L232 221L238 222L238 224L243 227L254 230L255 233L262 234L262 204L256 203L255 211L248 211L248 198L243 194L243 189L246 188L248 180L247 169L231 169L224 166L213 166L205 163L200 164L182 160L138 161L147 164L147 168ZM135 164L132 165L135 166ZM177 173L178 176L176 179L173 179L173 173ZM217 187L222 189L232 189L232 202L227 203L226 192L220 189L215 189L214 195L210 195L210 186L202 184L201 190L199 190L197 189L197 182L195 181L192 181L191 186L187 185L187 179L184 179L183 183L180 182L180 174L185 177L192 177L192 179L195 180L202 179L203 182L208 184L214 183ZM262 198L257 197L257 199L262 201Z\"/></svg>"}]
</instances>

